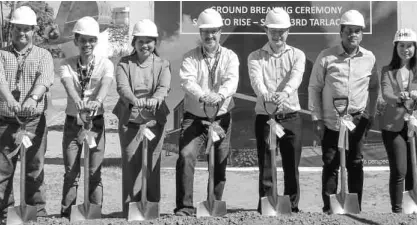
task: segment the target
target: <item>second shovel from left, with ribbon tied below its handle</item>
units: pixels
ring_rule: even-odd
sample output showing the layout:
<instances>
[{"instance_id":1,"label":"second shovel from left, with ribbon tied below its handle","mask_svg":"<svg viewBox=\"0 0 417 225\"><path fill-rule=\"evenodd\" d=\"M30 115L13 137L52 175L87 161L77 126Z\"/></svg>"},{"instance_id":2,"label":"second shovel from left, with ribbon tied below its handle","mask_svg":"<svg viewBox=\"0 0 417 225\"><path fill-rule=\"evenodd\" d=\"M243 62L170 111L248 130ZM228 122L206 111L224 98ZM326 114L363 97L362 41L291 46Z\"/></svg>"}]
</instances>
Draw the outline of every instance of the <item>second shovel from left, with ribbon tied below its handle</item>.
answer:
<instances>
[{"instance_id":1,"label":"second shovel from left, with ribbon tied below its handle","mask_svg":"<svg viewBox=\"0 0 417 225\"><path fill-rule=\"evenodd\" d=\"M90 163L90 148L96 147L96 135L91 132L93 124L90 117L93 114L94 111L83 110L79 115L81 121L83 122L83 127L78 134L78 142L80 144L82 143L84 151L84 203L73 205L71 207L71 222L101 218L101 206L92 204L89 200L90 174L88 172L88 168Z\"/></svg>"}]
</instances>

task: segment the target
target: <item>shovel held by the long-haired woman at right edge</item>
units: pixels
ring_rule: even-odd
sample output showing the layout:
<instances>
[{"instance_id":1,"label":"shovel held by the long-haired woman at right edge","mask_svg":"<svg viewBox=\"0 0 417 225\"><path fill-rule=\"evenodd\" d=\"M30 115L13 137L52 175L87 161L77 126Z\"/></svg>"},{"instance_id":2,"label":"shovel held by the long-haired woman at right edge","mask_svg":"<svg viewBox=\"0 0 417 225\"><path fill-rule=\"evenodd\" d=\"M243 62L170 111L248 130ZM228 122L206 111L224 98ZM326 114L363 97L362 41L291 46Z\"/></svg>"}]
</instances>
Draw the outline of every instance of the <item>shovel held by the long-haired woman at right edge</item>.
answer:
<instances>
[{"instance_id":1,"label":"shovel held by the long-haired woman at right edge","mask_svg":"<svg viewBox=\"0 0 417 225\"><path fill-rule=\"evenodd\" d=\"M404 108L407 110L405 120L408 124L408 141L410 144L410 157L411 157L411 174L413 176L413 189L403 192L403 212L405 214L417 213L417 173L416 173L416 132L417 132L417 119L416 119L416 101L407 100L404 104Z\"/></svg>"}]
</instances>

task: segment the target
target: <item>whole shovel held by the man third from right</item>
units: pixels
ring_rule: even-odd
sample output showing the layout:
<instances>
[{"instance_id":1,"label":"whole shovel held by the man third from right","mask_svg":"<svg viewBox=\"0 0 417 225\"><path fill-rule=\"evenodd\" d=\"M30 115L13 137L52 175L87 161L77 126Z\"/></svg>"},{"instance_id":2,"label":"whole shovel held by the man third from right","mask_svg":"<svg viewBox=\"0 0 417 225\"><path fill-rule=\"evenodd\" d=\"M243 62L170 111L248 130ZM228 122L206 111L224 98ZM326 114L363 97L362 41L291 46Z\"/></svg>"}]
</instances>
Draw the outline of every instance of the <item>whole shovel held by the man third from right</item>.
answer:
<instances>
[{"instance_id":1,"label":"whole shovel held by the man third from right","mask_svg":"<svg viewBox=\"0 0 417 225\"><path fill-rule=\"evenodd\" d=\"M274 111L270 113L268 108L274 107ZM276 125L275 114L278 112L278 107L273 103L265 103L264 108L269 115L269 151L271 151L271 172L272 172L272 196L265 196L261 198L261 214L263 216L277 216L278 214L291 214L291 201L288 195L278 195L277 190L277 134L274 132ZM282 131L283 132L283 131Z\"/></svg>"}]
</instances>

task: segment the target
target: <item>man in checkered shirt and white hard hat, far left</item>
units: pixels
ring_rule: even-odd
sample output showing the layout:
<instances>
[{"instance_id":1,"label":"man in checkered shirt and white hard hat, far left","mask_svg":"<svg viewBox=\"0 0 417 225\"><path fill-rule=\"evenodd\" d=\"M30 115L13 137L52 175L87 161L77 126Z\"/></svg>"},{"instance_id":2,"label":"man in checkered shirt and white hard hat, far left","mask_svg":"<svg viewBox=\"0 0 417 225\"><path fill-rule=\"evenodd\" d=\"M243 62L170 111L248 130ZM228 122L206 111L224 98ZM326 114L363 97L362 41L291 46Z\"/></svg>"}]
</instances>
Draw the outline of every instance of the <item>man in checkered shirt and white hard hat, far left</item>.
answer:
<instances>
[{"instance_id":1,"label":"man in checkered shirt and white hard hat, far left","mask_svg":"<svg viewBox=\"0 0 417 225\"><path fill-rule=\"evenodd\" d=\"M45 110L46 92L54 81L51 54L33 45L36 14L27 6L17 8L11 17L12 44L0 50L0 217L13 206L13 174L20 135L15 119L28 119L26 129L34 135L26 153L26 203L35 205L38 216L46 216L44 155L48 129ZM16 139L17 141L17 139Z\"/></svg>"}]
</instances>

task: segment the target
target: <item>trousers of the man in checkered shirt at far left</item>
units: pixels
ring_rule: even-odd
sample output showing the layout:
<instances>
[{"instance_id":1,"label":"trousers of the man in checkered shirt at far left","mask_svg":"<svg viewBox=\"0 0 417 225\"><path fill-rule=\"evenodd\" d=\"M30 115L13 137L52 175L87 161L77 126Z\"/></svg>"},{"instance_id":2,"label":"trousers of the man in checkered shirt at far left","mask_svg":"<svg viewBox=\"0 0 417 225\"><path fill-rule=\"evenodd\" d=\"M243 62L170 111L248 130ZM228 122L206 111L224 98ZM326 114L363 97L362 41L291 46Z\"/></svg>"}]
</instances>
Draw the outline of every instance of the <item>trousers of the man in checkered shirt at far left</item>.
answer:
<instances>
[{"instance_id":1,"label":"trousers of the man in checkered shirt at far left","mask_svg":"<svg viewBox=\"0 0 417 225\"><path fill-rule=\"evenodd\" d=\"M17 146L13 134L20 128L15 118L0 117L0 217L5 216L7 207L14 205L13 177L20 151L14 157L8 156ZM44 161L48 128L45 115L29 121L26 130L35 134L32 146L26 151L26 196L28 205L37 207L38 216L45 216L46 187L44 184Z\"/></svg>"}]
</instances>

